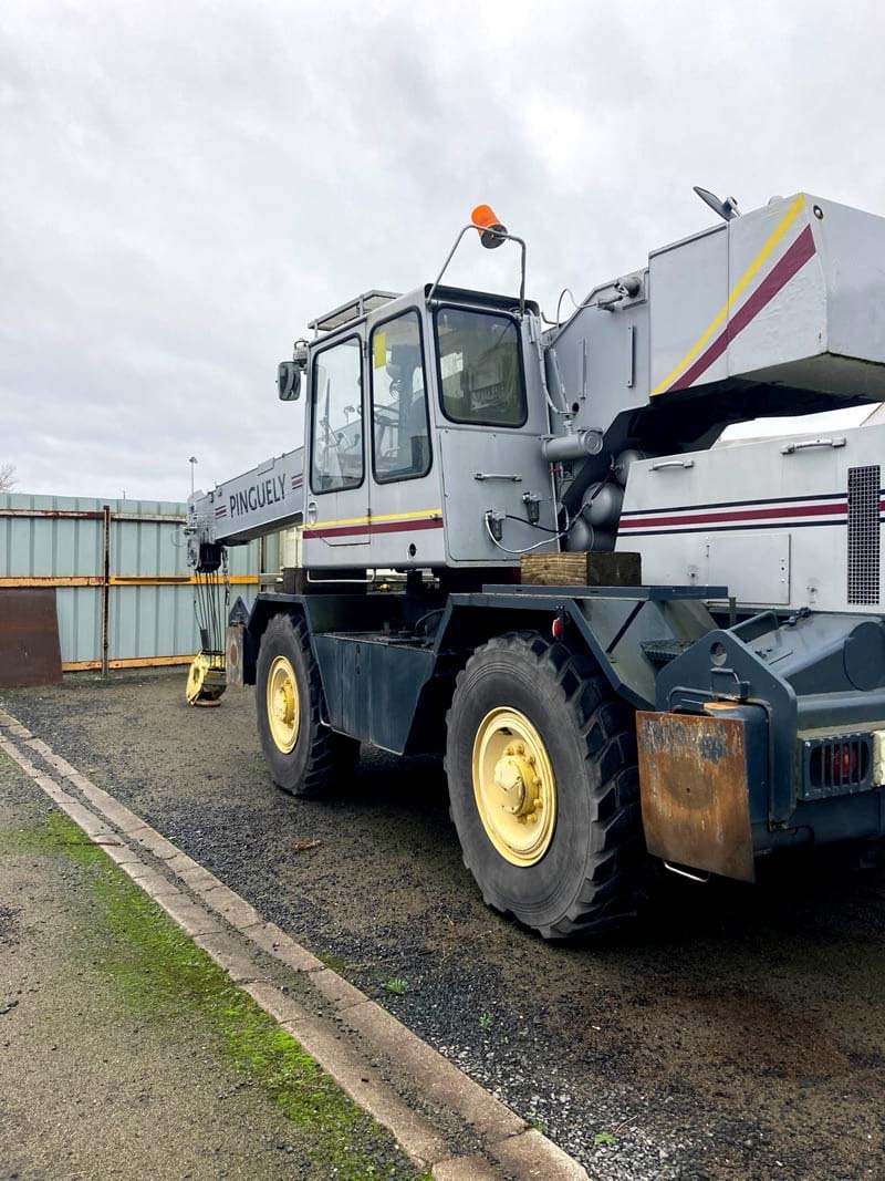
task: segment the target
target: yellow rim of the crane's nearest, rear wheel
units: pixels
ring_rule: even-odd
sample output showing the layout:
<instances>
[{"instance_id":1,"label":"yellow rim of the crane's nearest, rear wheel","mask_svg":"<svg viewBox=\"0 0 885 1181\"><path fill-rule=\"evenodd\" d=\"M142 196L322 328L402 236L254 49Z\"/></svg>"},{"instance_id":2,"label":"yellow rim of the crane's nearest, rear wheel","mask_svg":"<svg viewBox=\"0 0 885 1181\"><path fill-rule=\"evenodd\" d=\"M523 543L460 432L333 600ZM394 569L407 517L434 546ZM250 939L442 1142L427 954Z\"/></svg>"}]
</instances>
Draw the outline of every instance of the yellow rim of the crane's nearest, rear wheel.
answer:
<instances>
[{"instance_id":1,"label":"yellow rim of the crane's nearest, rear wheel","mask_svg":"<svg viewBox=\"0 0 885 1181\"><path fill-rule=\"evenodd\" d=\"M473 743L473 795L489 840L513 866L544 856L556 828L556 776L524 713L487 713Z\"/></svg>"}]
</instances>

